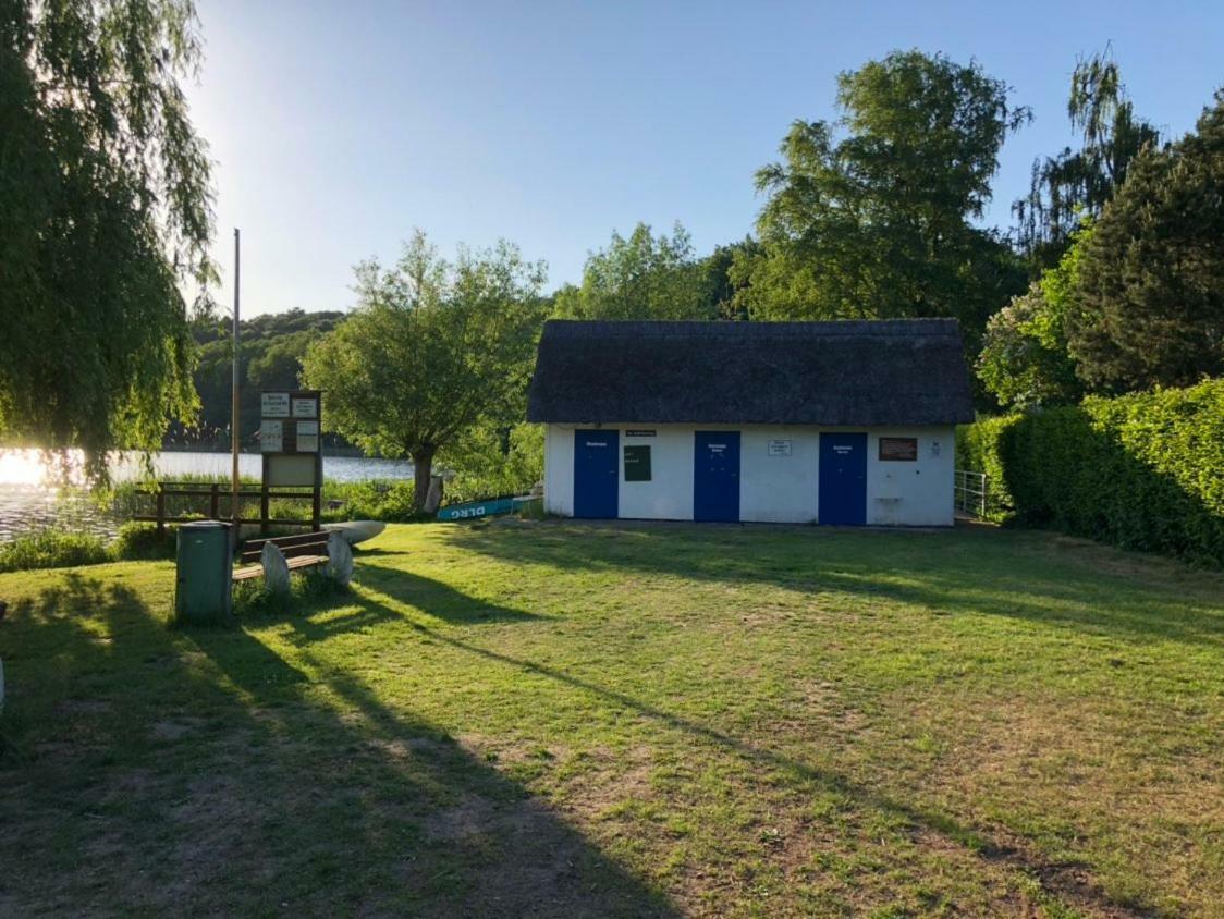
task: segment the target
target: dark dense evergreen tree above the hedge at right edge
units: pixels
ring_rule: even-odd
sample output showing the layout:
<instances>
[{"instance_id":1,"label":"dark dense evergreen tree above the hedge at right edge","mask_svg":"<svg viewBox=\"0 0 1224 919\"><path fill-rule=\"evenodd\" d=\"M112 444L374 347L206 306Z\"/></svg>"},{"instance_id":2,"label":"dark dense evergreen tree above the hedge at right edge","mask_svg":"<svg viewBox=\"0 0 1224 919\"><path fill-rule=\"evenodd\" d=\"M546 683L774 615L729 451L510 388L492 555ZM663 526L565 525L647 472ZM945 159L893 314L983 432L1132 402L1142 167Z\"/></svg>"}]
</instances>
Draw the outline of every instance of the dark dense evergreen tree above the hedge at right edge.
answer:
<instances>
[{"instance_id":1,"label":"dark dense evergreen tree above the hedge at right edge","mask_svg":"<svg viewBox=\"0 0 1224 919\"><path fill-rule=\"evenodd\" d=\"M1066 335L1103 392L1224 374L1224 91L1193 132L1131 163L1083 252Z\"/></svg>"}]
</instances>

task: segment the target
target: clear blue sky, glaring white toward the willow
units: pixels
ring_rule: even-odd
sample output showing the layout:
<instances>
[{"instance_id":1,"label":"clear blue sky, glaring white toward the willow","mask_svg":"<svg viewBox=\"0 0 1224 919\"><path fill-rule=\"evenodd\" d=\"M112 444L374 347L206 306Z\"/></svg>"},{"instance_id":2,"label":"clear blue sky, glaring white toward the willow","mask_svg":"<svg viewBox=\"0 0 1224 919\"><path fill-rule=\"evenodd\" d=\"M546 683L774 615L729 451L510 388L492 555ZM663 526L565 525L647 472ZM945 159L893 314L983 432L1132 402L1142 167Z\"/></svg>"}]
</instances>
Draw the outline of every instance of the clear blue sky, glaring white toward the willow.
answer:
<instances>
[{"instance_id":1,"label":"clear blue sky, glaring white toward the willow","mask_svg":"<svg viewBox=\"0 0 1224 919\"><path fill-rule=\"evenodd\" d=\"M1220 2L382 2L197 0L188 82L217 192L217 296L242 314L353 306L353 266L412 228L443 253L515 242L548 285L638 221L699 253L752 231L754 171L836 76L894 49L976 60L1034 121L988 225L1075 136L1080 55L1110 43L1136 111L1180 136L1224 84Z\"/></svg>"}]
</instances>

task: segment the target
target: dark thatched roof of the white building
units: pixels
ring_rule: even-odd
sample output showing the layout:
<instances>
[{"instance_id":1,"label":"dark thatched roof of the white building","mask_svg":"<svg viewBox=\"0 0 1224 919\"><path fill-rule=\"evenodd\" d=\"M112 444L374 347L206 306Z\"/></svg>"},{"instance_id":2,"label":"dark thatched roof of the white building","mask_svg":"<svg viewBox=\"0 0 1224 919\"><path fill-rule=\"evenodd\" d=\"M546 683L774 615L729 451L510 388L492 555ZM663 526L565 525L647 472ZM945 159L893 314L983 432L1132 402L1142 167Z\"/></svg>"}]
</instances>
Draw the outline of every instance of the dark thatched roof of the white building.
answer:
<instances>
[{"instance_id":1,"label":"dark thatched roof of the white building","mask_svg":"<svg viewBox=\"0 0 1224 919\"><path fill-rule=\"evenodd\" d=\"M551 321L528 419L951 425L973 405L955 319Z\"/></svg>"}]
</instances>

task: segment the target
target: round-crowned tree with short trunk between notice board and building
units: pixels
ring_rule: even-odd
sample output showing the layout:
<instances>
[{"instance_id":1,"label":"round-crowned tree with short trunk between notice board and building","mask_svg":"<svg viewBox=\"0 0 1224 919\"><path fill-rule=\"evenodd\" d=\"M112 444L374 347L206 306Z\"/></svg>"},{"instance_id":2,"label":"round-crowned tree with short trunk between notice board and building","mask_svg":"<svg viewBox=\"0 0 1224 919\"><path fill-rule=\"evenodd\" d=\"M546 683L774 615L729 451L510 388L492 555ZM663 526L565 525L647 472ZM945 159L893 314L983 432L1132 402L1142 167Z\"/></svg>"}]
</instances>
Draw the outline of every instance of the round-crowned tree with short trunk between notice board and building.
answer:
<instances>
[{"instance_id":1,"label":"round-crowned tree with short trunk between notice board and building","mask_svg":"<svg viewBox=\"0 0 1224 919\"><path fill-rule=\"evenodd\" d=\"M521 417L543 321L545 266L499 242L441 258L425 234L394 268L357 267L359 306L306 354L332 430L371 453L411 456L424 508L433 461L477 425Z\"/></svg>"}]
</instances>

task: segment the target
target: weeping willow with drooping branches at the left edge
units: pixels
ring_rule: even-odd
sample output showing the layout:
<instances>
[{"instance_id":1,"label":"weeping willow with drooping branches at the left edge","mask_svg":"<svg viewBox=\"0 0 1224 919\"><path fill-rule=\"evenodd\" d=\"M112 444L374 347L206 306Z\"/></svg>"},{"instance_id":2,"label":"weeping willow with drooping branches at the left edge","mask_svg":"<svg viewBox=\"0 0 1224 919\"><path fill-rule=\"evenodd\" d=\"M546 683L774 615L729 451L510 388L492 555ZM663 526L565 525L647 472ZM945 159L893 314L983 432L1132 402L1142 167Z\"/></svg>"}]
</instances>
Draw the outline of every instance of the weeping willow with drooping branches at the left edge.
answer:
<instances>
[{"instance_id":1,"label":"weeping willow with drooping branches at the left edge","mask_svg":"<svg viewBox=\"0 0 1224 919\"><path fill-rule=\"evenodd\" d=\"M188 0L0 0L0 438L153 449L195 407L209 164Z\"/></svg>"}]
</instances>

